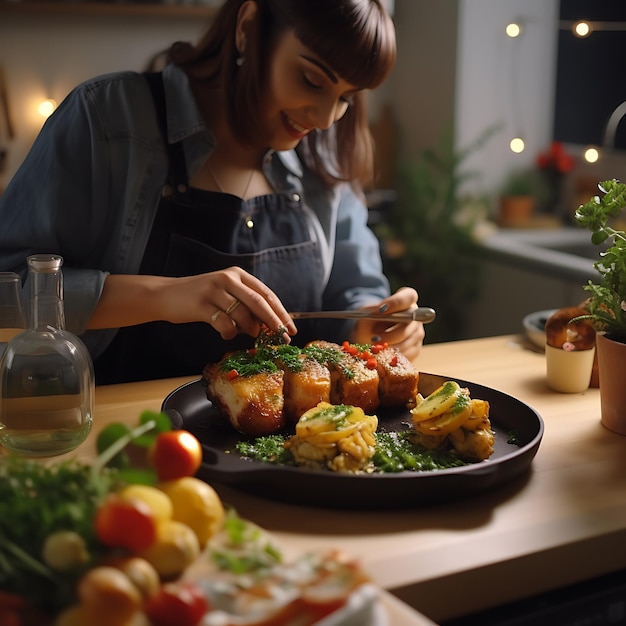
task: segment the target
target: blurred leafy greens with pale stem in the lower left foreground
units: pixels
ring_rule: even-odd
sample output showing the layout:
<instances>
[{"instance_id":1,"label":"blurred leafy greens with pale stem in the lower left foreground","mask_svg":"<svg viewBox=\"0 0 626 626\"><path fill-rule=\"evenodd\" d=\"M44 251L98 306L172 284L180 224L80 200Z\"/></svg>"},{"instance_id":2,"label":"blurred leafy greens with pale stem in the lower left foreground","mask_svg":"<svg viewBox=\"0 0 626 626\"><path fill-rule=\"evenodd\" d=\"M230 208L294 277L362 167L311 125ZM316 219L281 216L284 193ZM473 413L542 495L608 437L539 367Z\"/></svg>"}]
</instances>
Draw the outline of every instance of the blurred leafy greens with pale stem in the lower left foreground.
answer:
<instances>
[{"instance_id":1,"label":"blurred leafy greens with pale stem in the lower left foreground","mask_svg":"<svg viewBox=\"0 0 626 626\"><path fill-rule=\"evenodd\" d=\"M131 442L150 445L171 423L167 415L153 411L142 413L139 422L134 429L107 426L98 437L93 465L0 457L0 589L50 612L73 601L78 577L105 550L93 527L99 504L125 484L155 482L152 470L129 464L126 447ZM75 532L84 540L90 558L80 568L58 572L43 562L46 539L60 531Z\"/></svg>"}]
</instances>

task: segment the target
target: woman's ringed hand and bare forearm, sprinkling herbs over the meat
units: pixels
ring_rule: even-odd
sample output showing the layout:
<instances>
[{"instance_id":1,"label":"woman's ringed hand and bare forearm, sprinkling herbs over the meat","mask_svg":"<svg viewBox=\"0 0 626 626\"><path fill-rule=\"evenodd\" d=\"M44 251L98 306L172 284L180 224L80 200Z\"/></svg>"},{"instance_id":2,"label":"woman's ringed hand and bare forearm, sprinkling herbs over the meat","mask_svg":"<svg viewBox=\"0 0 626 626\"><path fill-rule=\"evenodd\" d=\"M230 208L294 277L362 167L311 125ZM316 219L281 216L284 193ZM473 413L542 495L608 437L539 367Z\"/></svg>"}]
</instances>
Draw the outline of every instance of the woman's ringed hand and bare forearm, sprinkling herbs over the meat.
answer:
<instances>
[{"instance_id":1,"label":"woman's ringed hand and bare forearm, sprinkling herbs over the meat","mask_svg":"<svg viewBox=\"0 0 626 626\"><path fill-rule=\"evenodd\" d=\"M261 324L273 331L284 327L286 342L297 332L278 296L239 267L181 278L111 275L89 328L120 328L157 320L206 322L223 339L239 333L256 337Z\"/></svg>"}]
</instances>

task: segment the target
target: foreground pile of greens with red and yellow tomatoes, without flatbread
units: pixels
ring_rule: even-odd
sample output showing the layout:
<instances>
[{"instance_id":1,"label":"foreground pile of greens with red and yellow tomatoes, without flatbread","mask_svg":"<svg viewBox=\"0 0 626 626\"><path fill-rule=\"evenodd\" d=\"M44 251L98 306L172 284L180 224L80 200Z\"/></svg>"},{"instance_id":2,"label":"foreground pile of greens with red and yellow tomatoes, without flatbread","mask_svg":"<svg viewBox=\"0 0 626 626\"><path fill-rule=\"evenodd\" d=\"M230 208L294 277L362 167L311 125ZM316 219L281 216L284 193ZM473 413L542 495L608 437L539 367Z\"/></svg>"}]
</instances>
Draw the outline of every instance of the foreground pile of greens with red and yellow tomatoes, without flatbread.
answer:
<instances>
[{"instance_id":1,"label":"foreground pile of greens with red and yellow tomatoes, without flatbread","mask_svg":"<svg viewBox=\"0 0 626 626\"><path fill-rule=\"evenodd\" d=\"M0 459L0 623L130 623L221 528L219 497L193 477L201 446L167 416L111 424L98 451L93 466Z\"/></svg>"}]
</instances>

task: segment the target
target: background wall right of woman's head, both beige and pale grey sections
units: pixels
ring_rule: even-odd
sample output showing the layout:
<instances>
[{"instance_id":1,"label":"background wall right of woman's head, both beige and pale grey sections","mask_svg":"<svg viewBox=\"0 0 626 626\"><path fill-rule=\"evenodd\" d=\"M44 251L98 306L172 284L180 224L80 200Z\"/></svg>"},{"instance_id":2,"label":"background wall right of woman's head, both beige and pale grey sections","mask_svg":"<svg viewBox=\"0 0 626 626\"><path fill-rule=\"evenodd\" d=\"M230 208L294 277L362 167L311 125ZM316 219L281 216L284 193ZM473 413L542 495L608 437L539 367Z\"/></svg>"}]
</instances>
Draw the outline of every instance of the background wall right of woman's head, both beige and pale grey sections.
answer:
<instances>
[{"instance_id":1,"label":"background wall right of woman's head, both beige and pale grey sections","mask_svg":"<svg viewBox=\"0 0 626 626\"><path fill-rule=\"evenodd\" d=\"M390 98L404 156L436 143L454 124L465 148L501 130L466 162L474 187L495 192L512 168L528 165L552 133L558 0L396 0L398 67ZM520 37L505 34L523 24ZM522 134L526 150L509 141Z\"/></svg>"}]
</instances>

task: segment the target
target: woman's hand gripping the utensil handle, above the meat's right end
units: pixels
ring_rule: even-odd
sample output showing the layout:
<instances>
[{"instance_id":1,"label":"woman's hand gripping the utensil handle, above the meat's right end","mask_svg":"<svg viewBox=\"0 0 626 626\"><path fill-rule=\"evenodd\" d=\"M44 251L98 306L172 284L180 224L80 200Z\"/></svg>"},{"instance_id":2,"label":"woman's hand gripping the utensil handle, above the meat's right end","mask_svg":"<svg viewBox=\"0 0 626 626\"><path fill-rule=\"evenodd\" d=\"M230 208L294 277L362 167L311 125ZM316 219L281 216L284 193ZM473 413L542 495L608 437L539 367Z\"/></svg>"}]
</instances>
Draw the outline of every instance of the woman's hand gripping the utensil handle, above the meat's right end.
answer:
<instances>
[{"instance_id":1,"label":"woman's hand gripping the utensil handle, above the meat's right end","mask_svg":"<svg viewBox=\"0 0 626 626\"><path fill-rule=\"evenodd\" d=\"M415 289L401 287L396 293L381 300L376 306L364 307L363 310L384 313L406 311L417 306L417 298ZM424 336L424 324L421 322L397 324L379 320L359 320L354 327L352 340L355 343L386 341L412 361L417 358L422 349Z\"/></svg>"}]
</instances>

